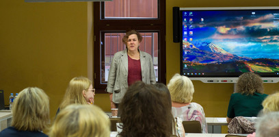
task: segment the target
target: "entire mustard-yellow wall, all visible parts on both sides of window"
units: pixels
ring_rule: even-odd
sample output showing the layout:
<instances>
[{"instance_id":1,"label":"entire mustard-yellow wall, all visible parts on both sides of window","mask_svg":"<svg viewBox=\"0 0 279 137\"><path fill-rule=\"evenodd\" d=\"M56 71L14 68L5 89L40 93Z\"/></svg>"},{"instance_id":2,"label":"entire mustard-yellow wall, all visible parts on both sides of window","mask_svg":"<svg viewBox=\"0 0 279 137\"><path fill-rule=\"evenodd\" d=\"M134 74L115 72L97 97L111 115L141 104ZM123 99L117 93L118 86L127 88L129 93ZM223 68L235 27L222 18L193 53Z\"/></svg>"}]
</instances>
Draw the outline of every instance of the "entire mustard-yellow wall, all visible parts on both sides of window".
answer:
<instances>
[{"instance_id":1,"label":"entire mustard-yellow wall, all visible parts on both sides of window","mask_svg":"<svg viewBox=\"0 0 279 137\"><path fill-rule=\"evenodd\" d=\"M179 44L172 42L172 7L279 6L278 0L166 0L167 83L179 73ZM72 77L92 77L92 3L0 3L0 88L5 104L10 92L37 86L51 99L51 117ZM88 50L89 49L89 50ZM91 64L90 64L91 63ZM89 64L89 65L88 65ZM233 84L204 84L194 81L194 100L206 116L226 116ZM265 84L265 92L279 90L279 84ZM107 94L96 95L96 105L109 111Z\"/></svg>"}]
</instances>

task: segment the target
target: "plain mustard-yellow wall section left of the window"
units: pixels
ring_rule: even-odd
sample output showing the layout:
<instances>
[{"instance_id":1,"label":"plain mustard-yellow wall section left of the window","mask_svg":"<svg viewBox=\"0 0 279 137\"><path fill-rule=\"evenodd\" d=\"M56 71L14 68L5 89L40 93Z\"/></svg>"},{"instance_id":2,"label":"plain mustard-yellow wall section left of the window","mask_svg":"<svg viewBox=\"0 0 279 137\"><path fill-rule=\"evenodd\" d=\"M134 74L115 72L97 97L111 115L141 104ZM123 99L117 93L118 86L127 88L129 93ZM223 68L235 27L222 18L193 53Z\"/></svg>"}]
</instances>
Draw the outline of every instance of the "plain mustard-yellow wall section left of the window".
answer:
<instances>
[{"instance_id":1,"label":"plain mustard-yellow wall section left of the window","mask_svg":"<svg viewBox=\"0 0 279 137\"><path fill-rule=\"evenodd\" d=\"M88 3L0 2L0 88L42 88L55 115L72 77L88 75Z\"/></svg>"}]
</instances>

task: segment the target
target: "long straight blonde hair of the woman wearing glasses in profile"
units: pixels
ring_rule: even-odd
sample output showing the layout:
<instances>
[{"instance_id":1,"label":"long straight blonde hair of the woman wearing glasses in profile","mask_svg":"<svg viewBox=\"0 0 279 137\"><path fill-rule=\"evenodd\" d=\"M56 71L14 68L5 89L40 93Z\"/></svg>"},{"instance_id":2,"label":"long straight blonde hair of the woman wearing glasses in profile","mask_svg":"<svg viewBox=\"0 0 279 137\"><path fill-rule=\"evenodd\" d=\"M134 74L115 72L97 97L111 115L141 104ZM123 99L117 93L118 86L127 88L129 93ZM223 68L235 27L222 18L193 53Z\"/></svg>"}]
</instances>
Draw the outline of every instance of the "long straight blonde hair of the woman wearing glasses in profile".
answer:
<instances>
[{"instance_id":1,"label":"long straight blonde hair of the woman wearing glasses in profile","mask_svg":"<svg viewBox=\"0 0 279 137\"><path fill-rule=\"evenodd\" d=\"M59 108L62 110L72 103L87 104L83 97L83 90L88 90L92 82L87 77L74 77L70 80L64 99Z\"/></svg>"}]
</instances>

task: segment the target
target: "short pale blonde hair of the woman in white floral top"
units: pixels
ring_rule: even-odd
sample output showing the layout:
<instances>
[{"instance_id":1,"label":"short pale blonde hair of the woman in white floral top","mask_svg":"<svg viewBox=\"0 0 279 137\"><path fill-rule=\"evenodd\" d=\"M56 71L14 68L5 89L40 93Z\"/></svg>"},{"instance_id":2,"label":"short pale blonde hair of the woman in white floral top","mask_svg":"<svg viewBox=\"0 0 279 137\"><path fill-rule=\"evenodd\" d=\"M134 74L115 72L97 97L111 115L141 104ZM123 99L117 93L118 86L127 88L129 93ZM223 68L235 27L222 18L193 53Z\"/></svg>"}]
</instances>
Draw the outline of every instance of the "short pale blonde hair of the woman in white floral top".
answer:
<instances>
[{"instance_id":1,"label":"short pale blonde hair of the woman in white floral top","mask_svg":"<svg viewBox=\"0 0 279 137\"><path fill-rule=\"evenodd\" d=\"M170 90L170 96L172 101L178 103L189 103L193 99L194 85L191 79L184 75L176 73L170 83L168 84Z\"/></svg>"}]
</instances>

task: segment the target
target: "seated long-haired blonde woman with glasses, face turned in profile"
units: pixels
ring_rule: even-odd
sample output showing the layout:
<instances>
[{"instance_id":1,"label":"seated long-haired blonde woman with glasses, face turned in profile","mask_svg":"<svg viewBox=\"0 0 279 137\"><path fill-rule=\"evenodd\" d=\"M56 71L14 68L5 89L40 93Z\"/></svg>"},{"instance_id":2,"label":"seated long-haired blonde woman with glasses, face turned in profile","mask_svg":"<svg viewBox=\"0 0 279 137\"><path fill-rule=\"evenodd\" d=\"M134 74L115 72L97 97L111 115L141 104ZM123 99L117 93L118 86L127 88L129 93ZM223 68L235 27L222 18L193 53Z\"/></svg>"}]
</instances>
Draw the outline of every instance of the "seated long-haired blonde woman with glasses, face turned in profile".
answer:
<instances>
[{"instance_id":1,"label":"seated long-haired blonde woman with glasses, face turned in profile","mask_svg":"<svg viewBox=\"0 0 279 137\"><path fill-rule=\"evenodd\" d=\"M70 104L93 104L94 103L95 89L92 82L87 77L74 77L70 80L64 99L59 105L59 110L66 108Z\"/></svg>"}]
</instances>

